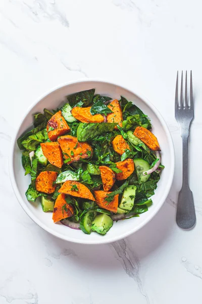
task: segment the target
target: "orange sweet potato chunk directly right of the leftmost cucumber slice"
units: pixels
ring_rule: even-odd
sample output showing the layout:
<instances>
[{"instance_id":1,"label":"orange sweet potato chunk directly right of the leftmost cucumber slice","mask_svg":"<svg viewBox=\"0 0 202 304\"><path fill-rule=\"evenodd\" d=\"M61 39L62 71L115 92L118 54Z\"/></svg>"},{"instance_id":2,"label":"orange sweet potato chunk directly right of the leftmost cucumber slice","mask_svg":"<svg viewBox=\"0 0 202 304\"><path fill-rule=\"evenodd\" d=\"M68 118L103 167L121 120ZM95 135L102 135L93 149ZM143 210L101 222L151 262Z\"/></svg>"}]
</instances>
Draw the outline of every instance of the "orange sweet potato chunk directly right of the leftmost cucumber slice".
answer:
<instances>
[{"instance_id":1,"label":"orange sweet potato chunk directly right of the leftmost cucumber slice","mask_svg":"<svg viewBox=\"0 0 202 304\"><path fill-rule=\"evenodd\" d=\"M48 162L61 168L63 165L63 154L58 142L43 142L41 149Z\"/></svg>"}]
</instances>

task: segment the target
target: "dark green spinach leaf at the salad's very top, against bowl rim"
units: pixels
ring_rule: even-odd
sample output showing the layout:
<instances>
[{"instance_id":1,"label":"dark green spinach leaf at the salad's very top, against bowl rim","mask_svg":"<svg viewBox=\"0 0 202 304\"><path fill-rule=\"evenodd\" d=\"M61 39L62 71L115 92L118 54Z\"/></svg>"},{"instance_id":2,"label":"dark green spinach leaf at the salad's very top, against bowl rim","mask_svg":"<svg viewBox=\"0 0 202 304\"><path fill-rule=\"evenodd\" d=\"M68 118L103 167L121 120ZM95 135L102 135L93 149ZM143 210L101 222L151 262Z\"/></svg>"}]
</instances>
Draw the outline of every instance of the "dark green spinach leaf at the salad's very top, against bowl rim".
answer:
<instances>
[{"instance_id":1,"label":"dark green spinach leaf at the salad's very top, against bowl rim","mask_svg":"<svg viewBox=\"0 0 202 304\"><path fill-rule=\"evenodd\" d=\"M92 102L95 89L81 91L67 96L71 107L75 106L79 101L83 102L84 106L88 106Z\"/></svg>"}]
</instances>

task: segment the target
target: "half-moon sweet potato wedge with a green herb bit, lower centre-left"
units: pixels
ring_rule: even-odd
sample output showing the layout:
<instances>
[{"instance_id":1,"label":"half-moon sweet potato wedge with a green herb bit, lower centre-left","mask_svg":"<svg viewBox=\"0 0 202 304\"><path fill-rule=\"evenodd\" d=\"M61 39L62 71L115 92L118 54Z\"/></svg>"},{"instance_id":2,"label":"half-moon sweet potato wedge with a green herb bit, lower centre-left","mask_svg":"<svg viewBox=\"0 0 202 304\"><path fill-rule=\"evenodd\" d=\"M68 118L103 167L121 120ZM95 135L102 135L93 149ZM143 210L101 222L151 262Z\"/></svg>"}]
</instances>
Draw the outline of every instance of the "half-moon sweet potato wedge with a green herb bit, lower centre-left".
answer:
<instances>
[{"instance_id":1,"label":"half-moon sweet potato wedge with a green herb bit, lower centre-left","mask_svg":"<svg viewBox=\"0 0 202 304\"><path fill-rule=\"evenodd\" d=\"M58 191L59 193L69 194L78 198L94 201L90 190L78 181L67 180Z\"/></svg>"}]
</instances>

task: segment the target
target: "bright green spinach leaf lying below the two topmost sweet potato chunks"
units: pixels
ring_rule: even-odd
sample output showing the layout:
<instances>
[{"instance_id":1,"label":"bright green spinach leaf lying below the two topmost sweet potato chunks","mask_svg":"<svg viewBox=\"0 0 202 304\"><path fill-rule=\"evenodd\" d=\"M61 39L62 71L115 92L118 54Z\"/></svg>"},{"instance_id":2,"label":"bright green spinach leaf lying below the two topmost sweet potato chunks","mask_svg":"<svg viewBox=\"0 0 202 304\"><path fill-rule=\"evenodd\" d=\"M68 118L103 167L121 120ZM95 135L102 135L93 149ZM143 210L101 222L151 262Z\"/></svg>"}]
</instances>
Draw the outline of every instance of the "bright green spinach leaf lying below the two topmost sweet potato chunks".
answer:
<instances>
[{"instance_id":1,"label":"bright green spinach leaf lying below the two topmost sweet potato chunks","mask_svg":"<svg viewBox=\"0 0 202 304\"><path fill-rule=\"evenodd\" d=\"M78 141L87 141L96 138L100 134L105 134L114 130L117 123L80 123L77 129Z\"/></svg>"}]
</instances>

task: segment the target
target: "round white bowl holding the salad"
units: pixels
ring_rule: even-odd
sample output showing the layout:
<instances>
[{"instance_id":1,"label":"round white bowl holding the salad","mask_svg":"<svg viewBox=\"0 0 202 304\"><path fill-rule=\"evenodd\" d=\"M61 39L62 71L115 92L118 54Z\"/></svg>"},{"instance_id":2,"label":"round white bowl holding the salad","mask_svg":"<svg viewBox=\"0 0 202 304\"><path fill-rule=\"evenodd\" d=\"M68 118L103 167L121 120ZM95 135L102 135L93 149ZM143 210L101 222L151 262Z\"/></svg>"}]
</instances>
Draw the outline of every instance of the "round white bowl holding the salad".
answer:
<instances>
[{"instance_id":1,"label":"round white bowl holding the salad","mask_svg":"<svg viewBox=\"0 0 202 304\"><path fill-rule=\"evenodd\" d=\"M126 97L128 100L133 101L151 119L151 124L154 126L153 132L157 136L162 150L162 164L165 165L155 195L152 197L153 205L149 207L149 210L139 217L114 222L112 229L105 236L97 233L86 235L82 231L70 229L61 223L55 224L52 220L52 213L43 212L40 203L30 203L27 201L25 192L30 184L30 175L24 176L24 169L21 164L21 150L17 145L17 138L27 129L33 127L34 113L43 112L44 108L50 110L56 109L65 102L67 95L92 88L95 88L96 94L107 95L117 99L119 99L121 95ZM59 87L51 93L44 95L29 108L13 138L9 167L15 195L22 208L35 223L45 231L66 241L82 244L104 244L120 240L138 231L148 223L162 207L173 180L174 148L170 132L164 119L155 106L148 100L112 83L94 80L78 81Z\"/></svg>"}]
</instances>

